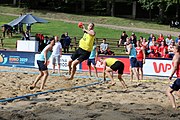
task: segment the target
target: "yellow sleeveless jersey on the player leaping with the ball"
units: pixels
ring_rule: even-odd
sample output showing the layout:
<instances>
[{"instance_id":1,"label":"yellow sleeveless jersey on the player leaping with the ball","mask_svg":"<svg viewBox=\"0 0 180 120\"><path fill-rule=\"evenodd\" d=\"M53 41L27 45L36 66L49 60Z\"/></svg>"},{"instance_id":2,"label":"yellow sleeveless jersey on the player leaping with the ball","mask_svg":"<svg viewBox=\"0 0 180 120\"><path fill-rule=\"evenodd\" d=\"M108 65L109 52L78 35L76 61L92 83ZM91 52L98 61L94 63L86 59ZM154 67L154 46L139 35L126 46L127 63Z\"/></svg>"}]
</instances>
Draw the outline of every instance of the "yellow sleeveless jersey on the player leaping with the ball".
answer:
<instances>
[{"instance_id":1,"label":"yellow sleeveless jersey on the player leaping with the ball","mask_svg":"<svg viewBox=\"0 0 180 120\"><path fill-rule=\"evenodd\" d=\"M95 36L84 33L83 38L79 41L79 47L83 50L92 51Z\"/></svg>"}]
</instances>

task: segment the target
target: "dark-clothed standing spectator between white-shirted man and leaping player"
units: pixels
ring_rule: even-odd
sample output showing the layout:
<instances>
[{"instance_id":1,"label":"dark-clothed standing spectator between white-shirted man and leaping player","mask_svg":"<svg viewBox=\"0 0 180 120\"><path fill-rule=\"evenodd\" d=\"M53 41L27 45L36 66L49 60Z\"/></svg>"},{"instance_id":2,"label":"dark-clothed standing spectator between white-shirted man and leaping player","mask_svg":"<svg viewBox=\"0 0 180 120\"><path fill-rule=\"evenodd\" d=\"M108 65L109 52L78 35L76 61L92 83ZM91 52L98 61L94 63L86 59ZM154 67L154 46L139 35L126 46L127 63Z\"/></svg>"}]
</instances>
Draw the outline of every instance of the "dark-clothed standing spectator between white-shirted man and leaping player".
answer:
<instances>
[{"instance_id":1,"label":"dark-clothed standing spectator between white-shirted man and leaping player","mask_svg":"<svg viewBox=\"0 0 180 120\"><path fill-rule=\"evenodd\" d=\"M64 53L69 53L69 46L71 43L71 38L68 36L68 32L65 33L65 38L64 38Z\"/></svg>"}]
</instances>

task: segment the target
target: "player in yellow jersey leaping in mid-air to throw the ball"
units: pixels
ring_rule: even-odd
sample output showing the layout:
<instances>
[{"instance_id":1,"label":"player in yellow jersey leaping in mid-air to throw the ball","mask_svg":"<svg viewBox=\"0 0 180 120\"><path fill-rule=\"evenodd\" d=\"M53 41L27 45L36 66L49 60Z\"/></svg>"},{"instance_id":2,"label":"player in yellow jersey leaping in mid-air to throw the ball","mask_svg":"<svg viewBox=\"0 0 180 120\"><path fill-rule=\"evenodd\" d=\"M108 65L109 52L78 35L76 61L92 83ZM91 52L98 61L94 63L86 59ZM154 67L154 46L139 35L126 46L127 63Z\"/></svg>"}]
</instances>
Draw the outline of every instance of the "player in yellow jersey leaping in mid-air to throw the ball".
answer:
<instances>
[{"instance_id":1,"label":"player in yellow jersey leaping in mid-air to throw the ball","mask_svg":"<svg viewBox=\"0 0 180 120\"><path fill-rule=\"evenodd\" d=\"M66 78L66 80L72 80L74 78L76 66L89 58L93 48L95 39L94 23L90 23L87 29L83 25L82 30L84 35L79 41L79 48L75 51L74 54L72 54L71 59L68 61L70 77Z\"/></svg>"}]
</instances>

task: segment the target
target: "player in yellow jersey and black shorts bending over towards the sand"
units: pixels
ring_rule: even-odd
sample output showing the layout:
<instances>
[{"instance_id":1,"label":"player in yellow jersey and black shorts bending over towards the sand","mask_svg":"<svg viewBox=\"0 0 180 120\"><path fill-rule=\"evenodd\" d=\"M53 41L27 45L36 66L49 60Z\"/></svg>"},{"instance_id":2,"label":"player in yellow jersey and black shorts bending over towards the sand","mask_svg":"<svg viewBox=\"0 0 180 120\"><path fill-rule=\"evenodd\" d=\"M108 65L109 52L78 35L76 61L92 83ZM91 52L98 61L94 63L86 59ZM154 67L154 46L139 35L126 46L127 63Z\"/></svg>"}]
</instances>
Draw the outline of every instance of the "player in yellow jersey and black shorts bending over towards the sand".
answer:
<instances>
[{"instance_id":1,"label":"player in yellow jersey and black shorts bending over towards the sand","mask_svg":"<svg viewBox=\"0 0 180 120\"><path fill-rule=\"evenodd\" d=\"M106 74L111 80L111 85L115 85L116 82L114 81L110 72L118 70L118 79L121 82L123 88L127 88L126 83L122 79L123 71L124 71L124 63L116 58L101 58L100 62L103 64L103 78L104 81L106 80Z\"/></svg>"}]
</instances>

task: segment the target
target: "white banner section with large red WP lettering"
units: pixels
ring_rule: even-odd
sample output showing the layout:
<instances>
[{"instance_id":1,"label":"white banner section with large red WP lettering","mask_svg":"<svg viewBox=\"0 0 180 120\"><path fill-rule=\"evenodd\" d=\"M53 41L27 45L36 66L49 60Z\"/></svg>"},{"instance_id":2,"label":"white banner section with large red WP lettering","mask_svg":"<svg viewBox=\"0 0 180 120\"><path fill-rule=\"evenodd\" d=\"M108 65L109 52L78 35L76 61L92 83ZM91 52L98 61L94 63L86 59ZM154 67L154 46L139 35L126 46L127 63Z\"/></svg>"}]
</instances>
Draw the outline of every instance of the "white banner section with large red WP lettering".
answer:
<instances>
[{"instance_id":1,"label":"white banner section with large red WP lettering","mask_svg":"<svg viewBox=\"0 0 180 120\"><path fill-rule=\"evenodd\" d=\"M145 75L169 76L172 68L172 60L146 59L143 71Z\"/></svg>"}]
</instances>

